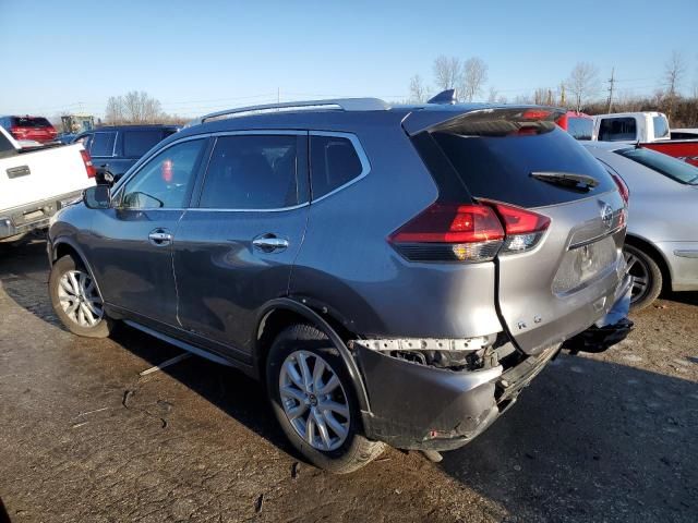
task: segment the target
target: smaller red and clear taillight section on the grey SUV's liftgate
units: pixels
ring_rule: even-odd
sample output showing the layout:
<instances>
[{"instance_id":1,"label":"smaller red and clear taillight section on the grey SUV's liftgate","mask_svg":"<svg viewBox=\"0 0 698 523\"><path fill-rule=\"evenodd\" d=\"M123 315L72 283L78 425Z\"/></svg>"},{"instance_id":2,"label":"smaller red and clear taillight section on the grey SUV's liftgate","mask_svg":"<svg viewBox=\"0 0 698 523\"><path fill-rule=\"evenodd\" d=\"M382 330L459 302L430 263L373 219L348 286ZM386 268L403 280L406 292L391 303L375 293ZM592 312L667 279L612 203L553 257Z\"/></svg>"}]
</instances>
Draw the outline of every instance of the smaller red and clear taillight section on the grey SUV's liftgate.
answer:
<instances>
[{"instance_id":1,"label":"smaller red and clear taillight section on the grey SUV's liftgate","mask_svg":"<svg viewBox=\"0 0 698 523\"><path fill-rule=\"evenodd\" d=\"M500 254L530 251L540 242L550 227L550 218L513 205L484 202L491 205L504 223L506 239Z\"/></svg>"}]
</instances>

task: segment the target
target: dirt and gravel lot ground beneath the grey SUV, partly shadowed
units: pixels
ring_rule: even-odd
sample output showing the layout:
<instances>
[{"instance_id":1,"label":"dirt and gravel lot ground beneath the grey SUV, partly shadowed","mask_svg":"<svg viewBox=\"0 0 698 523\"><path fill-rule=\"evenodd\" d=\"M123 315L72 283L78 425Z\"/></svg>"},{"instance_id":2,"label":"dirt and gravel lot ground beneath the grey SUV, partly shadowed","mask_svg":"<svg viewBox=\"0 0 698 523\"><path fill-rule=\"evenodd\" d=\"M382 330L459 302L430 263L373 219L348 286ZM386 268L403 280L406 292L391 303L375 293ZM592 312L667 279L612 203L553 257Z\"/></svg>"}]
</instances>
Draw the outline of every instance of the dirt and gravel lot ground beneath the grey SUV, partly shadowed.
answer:
<instances>
[{"instance_id":1,"label":"dirt and gravel lot ground beneath the grey SUV, partly shadowed","mask_svg":"<svg viewBox=\"0 0 698 523\"><path fill-rule=\"evenodd\" d=\"M440 464L387 451L349 476L298 463L234 370L51 313L44 243L0 255L0 497L13 522L698 521L698 294L562 355ZM2 515L0 515L0 521Z\"/></svg>"}]
</instances>

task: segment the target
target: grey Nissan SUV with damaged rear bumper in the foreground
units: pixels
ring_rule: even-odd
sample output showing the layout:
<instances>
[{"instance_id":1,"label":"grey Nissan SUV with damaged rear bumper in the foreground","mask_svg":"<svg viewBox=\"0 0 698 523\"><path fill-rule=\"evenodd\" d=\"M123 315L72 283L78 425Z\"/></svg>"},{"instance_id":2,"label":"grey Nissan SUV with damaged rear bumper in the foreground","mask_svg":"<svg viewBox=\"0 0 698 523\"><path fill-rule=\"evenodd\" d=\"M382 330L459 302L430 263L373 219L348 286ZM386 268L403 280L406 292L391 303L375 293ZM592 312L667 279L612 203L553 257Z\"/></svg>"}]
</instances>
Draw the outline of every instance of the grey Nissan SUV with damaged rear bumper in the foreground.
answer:
<instances>
[{"instance_id":1,"label":"grey Nissan SUV with damaged rear bumper in the foreground","mask_svg":"<svg viewBox=\"0 0 698 523\"><path fill-rule=\"evenodd\" d=\"M558 115L349 99L206 117L60 212L56 314L263 379L333 472L383 442L436 458L563 342L602 350L631 325L626 202Z\"/></svg>"}]
</instances>

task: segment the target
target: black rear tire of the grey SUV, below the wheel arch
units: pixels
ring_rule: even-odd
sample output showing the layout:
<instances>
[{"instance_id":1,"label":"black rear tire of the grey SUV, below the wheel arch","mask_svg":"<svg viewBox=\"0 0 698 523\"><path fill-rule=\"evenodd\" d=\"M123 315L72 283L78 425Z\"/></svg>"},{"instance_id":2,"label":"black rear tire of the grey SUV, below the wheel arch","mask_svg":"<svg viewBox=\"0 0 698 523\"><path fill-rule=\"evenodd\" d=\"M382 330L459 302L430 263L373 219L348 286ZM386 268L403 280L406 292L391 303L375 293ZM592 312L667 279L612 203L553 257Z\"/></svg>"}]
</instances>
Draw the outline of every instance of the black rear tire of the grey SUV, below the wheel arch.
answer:
<instances>
[{"instance_id":1,"label":"black rear tire of the grey SUV, below the wheel arch","mask_svg":"<svg viewBox=\"0 0 698 523\"><path fill-rule=\"evenodd\" d=\"M309 370L308 376L311 377L313 386L317 382L324 385L325 390L311 386L311 392L317 393L317 397L308 393L308 390L302 387L302 378L301 387L298 387L291 378L292 373L289 373L289 367L285 365L285 363L290 364L297 370L296 377L299 378L302 374L301 360L306 362L305 368ZM318 381L315 381L312 379L312 374L317 368L318 362L326 367L320 367L325 370L321 372ZM333 375L337 381L334 381ZM370 441L361 434L361 416L349 373L337 349L318 329L309 325L293 325L281 331L269 349L266 381L272 409L286 437L298 452L315 466L333 474L347 474L366 465L383 452L384 443ZM327 389L330 381L336 385L333 389ZM284 386L285 391L293 391L292 397L288 392L285 392L284 398L281 397L281 382L287 384ZM330 392L324 393L327 390ZM301 405L299 393L306 400L304 408ZM333 409L344 405L347 408L348 415L344 416L340 409L336 411L323 409L325 405ZM293 412L299 409L304 414L291 422L287 410ZM313 424L309 425L308 419L311 416L313 416ZM322 424L325 426L326 438L323 437ZM300 430L303 426L305 429L311 428L310 439L314 440L314 443L301 435L297 428L299 425ZM341 430L335 430L333 426L346 429L344 439Z\"/></svg>"}]
</instances>

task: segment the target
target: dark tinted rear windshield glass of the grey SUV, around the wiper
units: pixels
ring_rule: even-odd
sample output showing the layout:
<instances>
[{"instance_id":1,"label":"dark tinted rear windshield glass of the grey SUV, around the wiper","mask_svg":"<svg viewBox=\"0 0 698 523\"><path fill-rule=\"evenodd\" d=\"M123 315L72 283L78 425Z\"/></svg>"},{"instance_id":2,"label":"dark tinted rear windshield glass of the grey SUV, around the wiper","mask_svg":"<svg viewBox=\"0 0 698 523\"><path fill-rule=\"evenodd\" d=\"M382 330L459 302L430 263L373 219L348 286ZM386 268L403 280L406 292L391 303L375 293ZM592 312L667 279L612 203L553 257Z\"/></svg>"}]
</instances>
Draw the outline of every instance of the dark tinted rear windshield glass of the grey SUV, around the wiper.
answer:
<instances>
[{"instance_id":1,"label":"dark tinted rear windshield glass of the grey SUV, around the wiper","mask_svg":"<svg viewBox=\"0 0 698 523\"><path fill-rule=\"evenodd\" d=\"M541 134L473 136L435 132L433 137L470 194L521 207L540 207L602 194L616 186L575 138L555 126ZM598 185L576 188L532 178L532 173L592 177Z\"/></svg>"}]
</instances>

